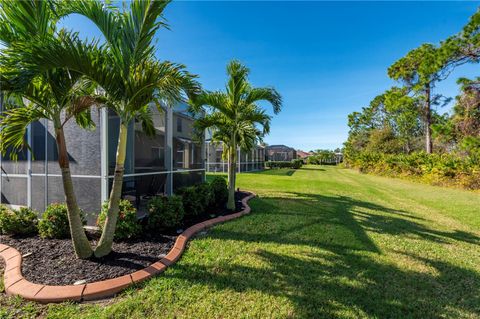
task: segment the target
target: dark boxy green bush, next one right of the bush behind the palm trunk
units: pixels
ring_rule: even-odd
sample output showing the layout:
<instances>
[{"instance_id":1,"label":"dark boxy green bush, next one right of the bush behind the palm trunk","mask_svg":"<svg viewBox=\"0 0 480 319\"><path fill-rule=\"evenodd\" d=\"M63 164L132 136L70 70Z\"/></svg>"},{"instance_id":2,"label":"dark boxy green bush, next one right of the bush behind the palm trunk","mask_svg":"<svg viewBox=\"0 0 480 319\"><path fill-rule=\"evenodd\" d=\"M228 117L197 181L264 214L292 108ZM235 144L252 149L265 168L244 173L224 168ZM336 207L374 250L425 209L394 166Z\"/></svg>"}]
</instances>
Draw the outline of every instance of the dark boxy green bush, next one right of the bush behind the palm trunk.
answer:
<instances>
[{"instance_id":1,"label":"dark boxy green bush, next one right of the bush behind the palm trunk","mask_svg":"<svg viewBox=\"0 0 480 319\"><path fill-rule=\"evenodd\" d=\"M156 196L148 202L148 220L146 228L156 232L165 228L174 228L182 224L183 216L182 197Z\"/></svg>"}]
</instances>

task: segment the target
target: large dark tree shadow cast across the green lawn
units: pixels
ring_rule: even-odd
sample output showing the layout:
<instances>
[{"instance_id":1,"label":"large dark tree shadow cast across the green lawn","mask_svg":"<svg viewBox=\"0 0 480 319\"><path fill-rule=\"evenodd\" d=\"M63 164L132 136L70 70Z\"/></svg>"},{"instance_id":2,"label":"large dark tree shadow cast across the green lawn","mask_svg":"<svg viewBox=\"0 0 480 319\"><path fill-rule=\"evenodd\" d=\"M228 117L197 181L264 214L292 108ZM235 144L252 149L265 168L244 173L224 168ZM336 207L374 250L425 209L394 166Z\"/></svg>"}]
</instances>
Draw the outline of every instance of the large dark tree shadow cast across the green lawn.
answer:
<instances>
[{"instance_id":1,"label":"large dark tree shadow cast across the green lawn","mask_svg":"<svg viewBox=\"0 0 480 319\"><path fill-rule=\"evenodd\" d=\"M349 197L290 194L293 198L252 201L258 213L246 217L248 223L226 224L210 237L305 245L292 248L299 249L298 254L281 253L288 252L288 247L272 252L263 246L255 254L268 267L228 261L214 266L180 263L180 271L173 275L217 289L258 290L285 297L295 306L295 317L302 318L474 317L480 313L478 273L402 250L394 252L402 262L422 264L428 271L399 268L366 231L415 237L433 245L452 240L479 243L474 234L430 229L407 211Z\"/></svg>"}]
</instances>

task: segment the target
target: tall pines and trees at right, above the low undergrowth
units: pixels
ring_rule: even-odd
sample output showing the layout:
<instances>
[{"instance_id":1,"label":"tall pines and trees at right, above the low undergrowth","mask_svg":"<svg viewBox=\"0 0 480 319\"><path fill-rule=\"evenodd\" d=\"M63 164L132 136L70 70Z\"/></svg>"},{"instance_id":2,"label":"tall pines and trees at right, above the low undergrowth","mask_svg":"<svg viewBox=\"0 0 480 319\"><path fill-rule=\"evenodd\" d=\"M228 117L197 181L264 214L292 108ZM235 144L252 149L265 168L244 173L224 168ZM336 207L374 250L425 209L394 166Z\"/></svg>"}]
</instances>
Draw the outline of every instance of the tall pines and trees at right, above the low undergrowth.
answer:
<instances>
[{"instance_id":1,"label":"tall pines and trees at right, above the low undergrowth","mask_svg":"<svg viewBox=\"0 0 480 319\"><path fill-rule=\"evenodd\" d=\"M389 77L398 85L348 116L347 165L368 170L375 163L367 164L370 157L366 154L376 153L376 160L378 154L388 155L398 162L408 155L420 158L422 152L479 165L480 77L457 79L460 94L454 99L435 90L455 68L479 62L479 31L480 11L457 34L437 44L422 44L388 68ZM438 111L452 102L450 113ZM393 155L401 157L393 160ZM432 158L437 157L437 162L442 162L442 156ZM380 160L378 165L382 163Z\"/></svg>"}]
</instances>

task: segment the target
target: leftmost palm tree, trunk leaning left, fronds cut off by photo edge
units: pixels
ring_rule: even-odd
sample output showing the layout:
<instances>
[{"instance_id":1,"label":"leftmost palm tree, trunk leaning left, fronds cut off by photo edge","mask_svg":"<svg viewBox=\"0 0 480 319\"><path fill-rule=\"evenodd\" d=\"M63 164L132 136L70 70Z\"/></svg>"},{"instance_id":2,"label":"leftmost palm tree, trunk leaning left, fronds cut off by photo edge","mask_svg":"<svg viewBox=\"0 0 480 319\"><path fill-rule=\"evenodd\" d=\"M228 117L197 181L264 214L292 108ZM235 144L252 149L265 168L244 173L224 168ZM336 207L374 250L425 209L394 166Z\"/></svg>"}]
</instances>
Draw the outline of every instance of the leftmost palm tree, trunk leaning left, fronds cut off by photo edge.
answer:
<instances>
[{"instance_id":1,"label":"leftmost palm tree, trunk leaning left, fronds cut off by photo edge","mask_svg":"<svg viewBox=\"0 0 480 319\"><path fill-rule=\"evenodd\" d=\"M54 36L57 20L46 2L20 1L15 6L7 2L0 2L0 43L5 48L20 42L43 42ZM0 70L0 88L7 95L7 111L0 116L0 151L5 154L8 150L15 157L29 147L24 136L31 123L41 119L53 123L74 250L79 258L88 258L93 250L80 218L63 128L72 118L82 127L93 125L88 112L96 102L91 96L91 82L66 69L33 74L15 65L2 65Z\"/></svg>"}]
</instances>

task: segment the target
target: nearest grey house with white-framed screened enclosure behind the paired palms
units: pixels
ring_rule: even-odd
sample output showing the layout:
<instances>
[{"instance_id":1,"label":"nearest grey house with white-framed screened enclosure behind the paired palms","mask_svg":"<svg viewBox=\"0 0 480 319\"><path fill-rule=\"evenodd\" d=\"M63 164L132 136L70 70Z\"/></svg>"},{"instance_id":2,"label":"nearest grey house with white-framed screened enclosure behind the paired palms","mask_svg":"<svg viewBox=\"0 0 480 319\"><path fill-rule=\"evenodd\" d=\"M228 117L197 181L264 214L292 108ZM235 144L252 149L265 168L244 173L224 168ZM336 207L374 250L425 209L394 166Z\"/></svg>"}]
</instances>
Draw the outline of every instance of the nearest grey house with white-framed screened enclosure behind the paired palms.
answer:
<instances>
[{"instance_id":1,"label":"nearest grey house with white-framed screened enclosure behind the paired palms","mask_svg":"<svg viewBox=\"0 0 480 319\"><path fill-rule=\"evenodd\" d=\"M140 123L130 124L122 197L137 207L150 196L205 179L204 146L192 141L193 119L185 109L178 105L159 112L152 106L153 137L142 132ZM96 129L87 131L70 121L65 135L79 206L98 213L113 181L119 118L106 108L92 110L92 118ZM0 203L42 212L50 203L65 201L52 123L33 123L26 139L32 152L25 150L17 161L0 157Z\"/></svg>"}]
</instances>

